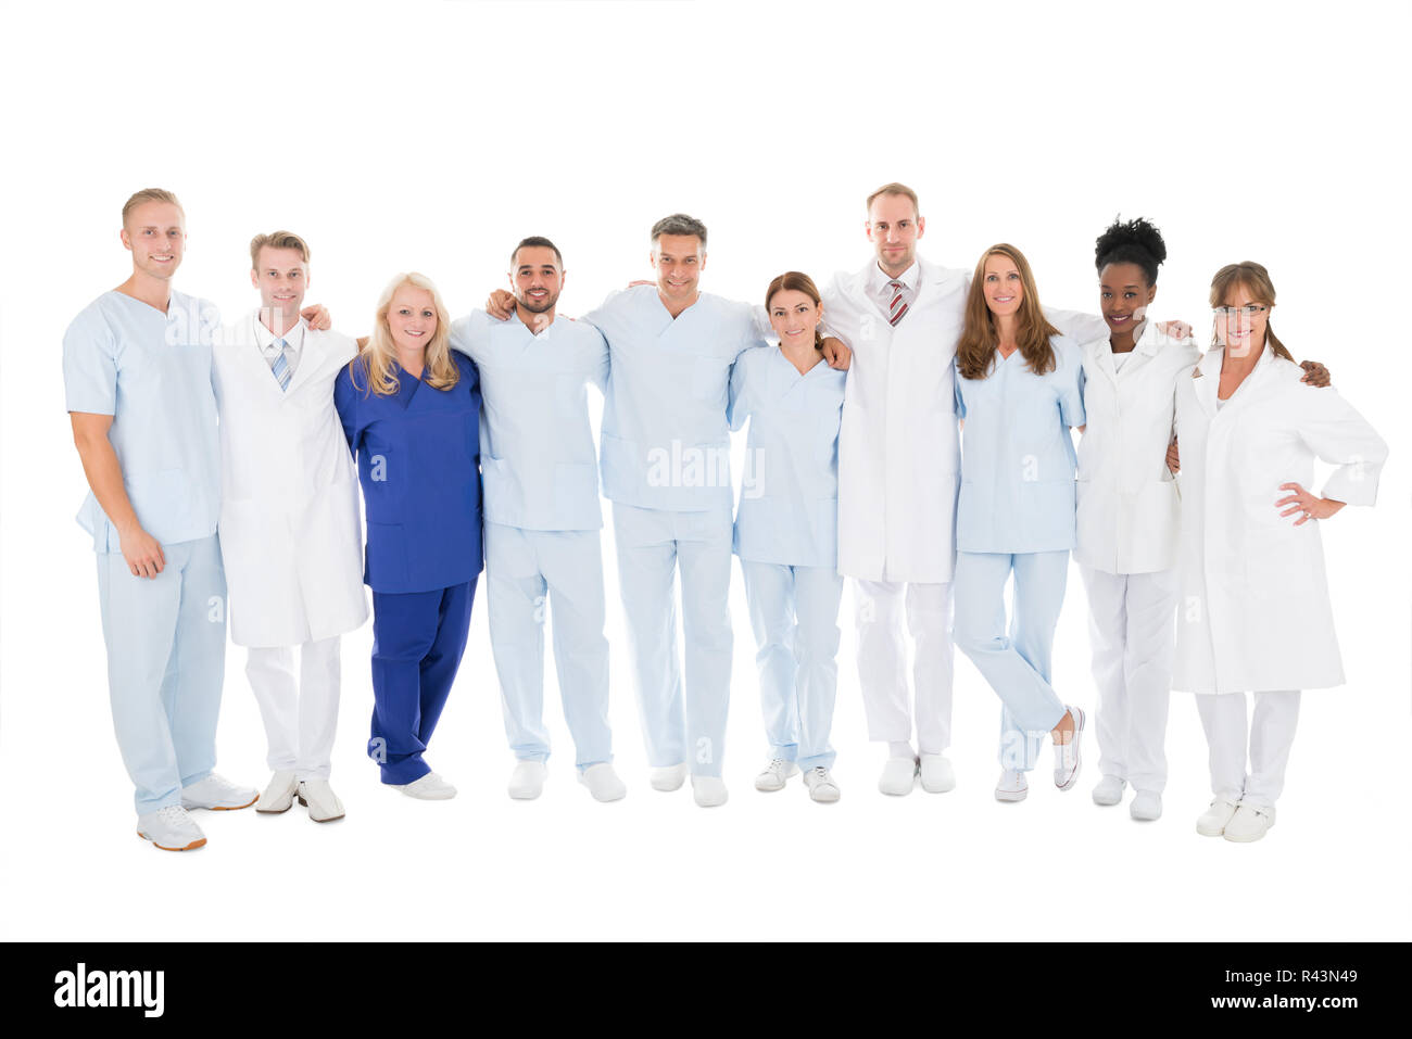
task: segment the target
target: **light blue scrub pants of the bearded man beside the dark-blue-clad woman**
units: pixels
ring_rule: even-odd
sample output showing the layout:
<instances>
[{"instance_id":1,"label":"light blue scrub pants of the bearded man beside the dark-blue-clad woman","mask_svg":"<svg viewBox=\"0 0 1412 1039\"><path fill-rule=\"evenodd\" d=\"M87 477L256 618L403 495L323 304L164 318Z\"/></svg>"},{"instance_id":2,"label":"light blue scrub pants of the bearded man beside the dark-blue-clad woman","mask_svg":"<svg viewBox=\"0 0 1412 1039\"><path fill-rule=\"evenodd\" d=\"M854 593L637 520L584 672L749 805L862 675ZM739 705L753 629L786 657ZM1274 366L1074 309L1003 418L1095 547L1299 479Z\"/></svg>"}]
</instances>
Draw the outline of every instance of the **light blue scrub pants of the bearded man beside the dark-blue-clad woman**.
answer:
<instances>
[{"instance_id":1,"label":"light blue scrub pants of the bearded man beside the dark-blue-clad woman","mask_svg":"<svg viewBox=\"0 0 1412 1039\"><path fill-rule=\"evenodd\" d=\"M549 759L544 727L544 618L554 610L554 661L563 720L580 769L613 759L603 553L597 531L527 531L486 524L490 651L510 750Z\"/></svg>"}]
</instances>

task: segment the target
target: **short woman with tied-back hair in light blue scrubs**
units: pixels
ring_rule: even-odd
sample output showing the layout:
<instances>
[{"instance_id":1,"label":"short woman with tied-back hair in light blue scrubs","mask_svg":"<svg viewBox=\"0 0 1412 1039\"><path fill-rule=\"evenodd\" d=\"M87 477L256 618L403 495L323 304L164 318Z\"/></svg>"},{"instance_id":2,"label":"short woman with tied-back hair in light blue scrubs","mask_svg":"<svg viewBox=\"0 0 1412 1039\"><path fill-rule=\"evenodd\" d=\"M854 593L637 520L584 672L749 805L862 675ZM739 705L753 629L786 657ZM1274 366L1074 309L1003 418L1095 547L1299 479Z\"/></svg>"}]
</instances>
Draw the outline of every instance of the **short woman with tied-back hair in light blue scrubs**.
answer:
<instances>
[{"instance_id":1,"label":"short woman with tied-back hair in light blue scrubs","mask_svg":"<svg viewBox=\"0 0 1412 1039\"><path fill-rule=\"evenodd\" d=\"M750 418L734 552L760 651L771 761L755 789L803 771L809 796L839 799L829 728L839 685L839 419L846 371L823 361L819 289L788 271L765 292L778 349L747 350L730 373L730 428Z\"/></svg>"}]
</instances>

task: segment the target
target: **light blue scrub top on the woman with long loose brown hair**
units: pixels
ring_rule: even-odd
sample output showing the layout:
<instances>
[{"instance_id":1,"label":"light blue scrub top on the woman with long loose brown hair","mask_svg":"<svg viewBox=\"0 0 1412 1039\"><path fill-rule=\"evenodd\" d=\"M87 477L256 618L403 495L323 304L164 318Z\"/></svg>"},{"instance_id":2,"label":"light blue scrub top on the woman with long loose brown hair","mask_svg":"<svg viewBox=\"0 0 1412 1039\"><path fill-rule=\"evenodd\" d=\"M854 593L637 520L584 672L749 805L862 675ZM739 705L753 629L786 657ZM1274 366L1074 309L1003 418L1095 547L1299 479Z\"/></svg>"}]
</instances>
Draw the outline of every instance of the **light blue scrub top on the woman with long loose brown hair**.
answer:
<instances>
[{"instance_id":1,"label":"light blue scrub top on the woman with long loose brown hair","mask_svg":"<svg viewBox=\"0 0 1412 1039\"><path fill-rule=\"evenodd\" d=\"M1019 350L1000 352L986 378L956 368L962 429L960 552L1059 552L1075 546L1075 464L1069 426L1082 426L1083 353L1049 340L1056 367L1029 370Z\"/></svg>"}]
</instances>

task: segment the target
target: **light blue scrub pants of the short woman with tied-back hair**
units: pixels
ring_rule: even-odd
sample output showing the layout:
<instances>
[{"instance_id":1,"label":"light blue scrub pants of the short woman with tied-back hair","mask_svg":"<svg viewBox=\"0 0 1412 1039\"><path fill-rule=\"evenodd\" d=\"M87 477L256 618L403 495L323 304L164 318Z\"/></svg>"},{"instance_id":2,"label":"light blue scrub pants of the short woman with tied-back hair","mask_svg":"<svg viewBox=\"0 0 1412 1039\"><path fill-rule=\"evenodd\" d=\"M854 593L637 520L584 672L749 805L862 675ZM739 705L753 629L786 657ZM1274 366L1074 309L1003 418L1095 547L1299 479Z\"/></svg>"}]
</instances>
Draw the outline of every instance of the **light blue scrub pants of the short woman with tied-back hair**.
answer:
<instances>
[{"instance_id":1,"label":"light blue scrub pants of the short woman with tied-back hair","mask_svg":"<svg viewBox=\"0 0 1412 1039\"><path fill-rule=\"evenodd\" d=\"M833 768L829 728L839 689L839 601L843 577L832 566L740 560L755 632L760 707L775 758L799 768Z\"/></svg>"}]
</instances>

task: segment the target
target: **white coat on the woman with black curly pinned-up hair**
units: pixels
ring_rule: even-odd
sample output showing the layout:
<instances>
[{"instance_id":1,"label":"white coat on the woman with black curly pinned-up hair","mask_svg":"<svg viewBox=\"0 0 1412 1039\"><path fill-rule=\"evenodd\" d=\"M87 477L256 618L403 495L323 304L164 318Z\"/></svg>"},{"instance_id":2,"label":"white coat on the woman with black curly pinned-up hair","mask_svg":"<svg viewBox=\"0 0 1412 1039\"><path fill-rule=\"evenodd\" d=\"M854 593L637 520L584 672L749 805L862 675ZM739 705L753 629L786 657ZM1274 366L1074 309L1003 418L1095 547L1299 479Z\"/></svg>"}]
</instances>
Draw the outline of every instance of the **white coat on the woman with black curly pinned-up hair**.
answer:
<instances>
[{"instance_id":1,"label":"white coat on the woman with black curly pinned-up hair","mask_svg":"<svg viewBox=\"0 0 1412 1039\"><path fill-rule=\"evenodd\" d=\"M1118 368L1101 339L1083 344L1083 408L1079 440L1080 566L1104 573L1155 573L1176 565L1180 497L1166 467L1178 377L1200 360L1187 336L1172 339L1147 322Z\"/></svg>"}]
</instances>

